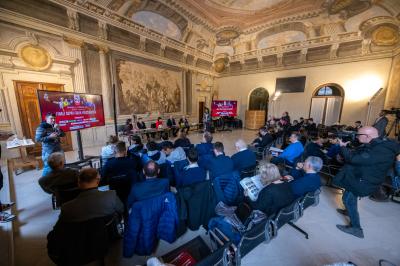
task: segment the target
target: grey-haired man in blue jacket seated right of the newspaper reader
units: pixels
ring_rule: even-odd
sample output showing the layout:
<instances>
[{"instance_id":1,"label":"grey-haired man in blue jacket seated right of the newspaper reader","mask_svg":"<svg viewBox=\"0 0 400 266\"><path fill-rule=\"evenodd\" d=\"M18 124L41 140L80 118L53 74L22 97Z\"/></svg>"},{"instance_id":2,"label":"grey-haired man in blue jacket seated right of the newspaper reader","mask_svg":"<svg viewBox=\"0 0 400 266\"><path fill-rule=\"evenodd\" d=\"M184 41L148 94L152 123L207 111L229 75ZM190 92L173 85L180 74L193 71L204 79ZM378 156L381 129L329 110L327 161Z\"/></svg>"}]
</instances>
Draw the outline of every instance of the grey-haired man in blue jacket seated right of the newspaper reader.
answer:
<instances>
[{"instance_id":1,"label":"grey-haired man in blue jacket seated right of the newspaper reader","mask_svg":"<svg viewBox=\"0 0 400 266\"><path fill-rule=\"evenodd\" d=\"M290 182L293 195L299 198L307 192L313 192L321 187L321 178L318 172L322 168L322 159L315 156L308 157L304 163L298 163L292 169L294 180Z\"/></svg>"}]
</instances>

